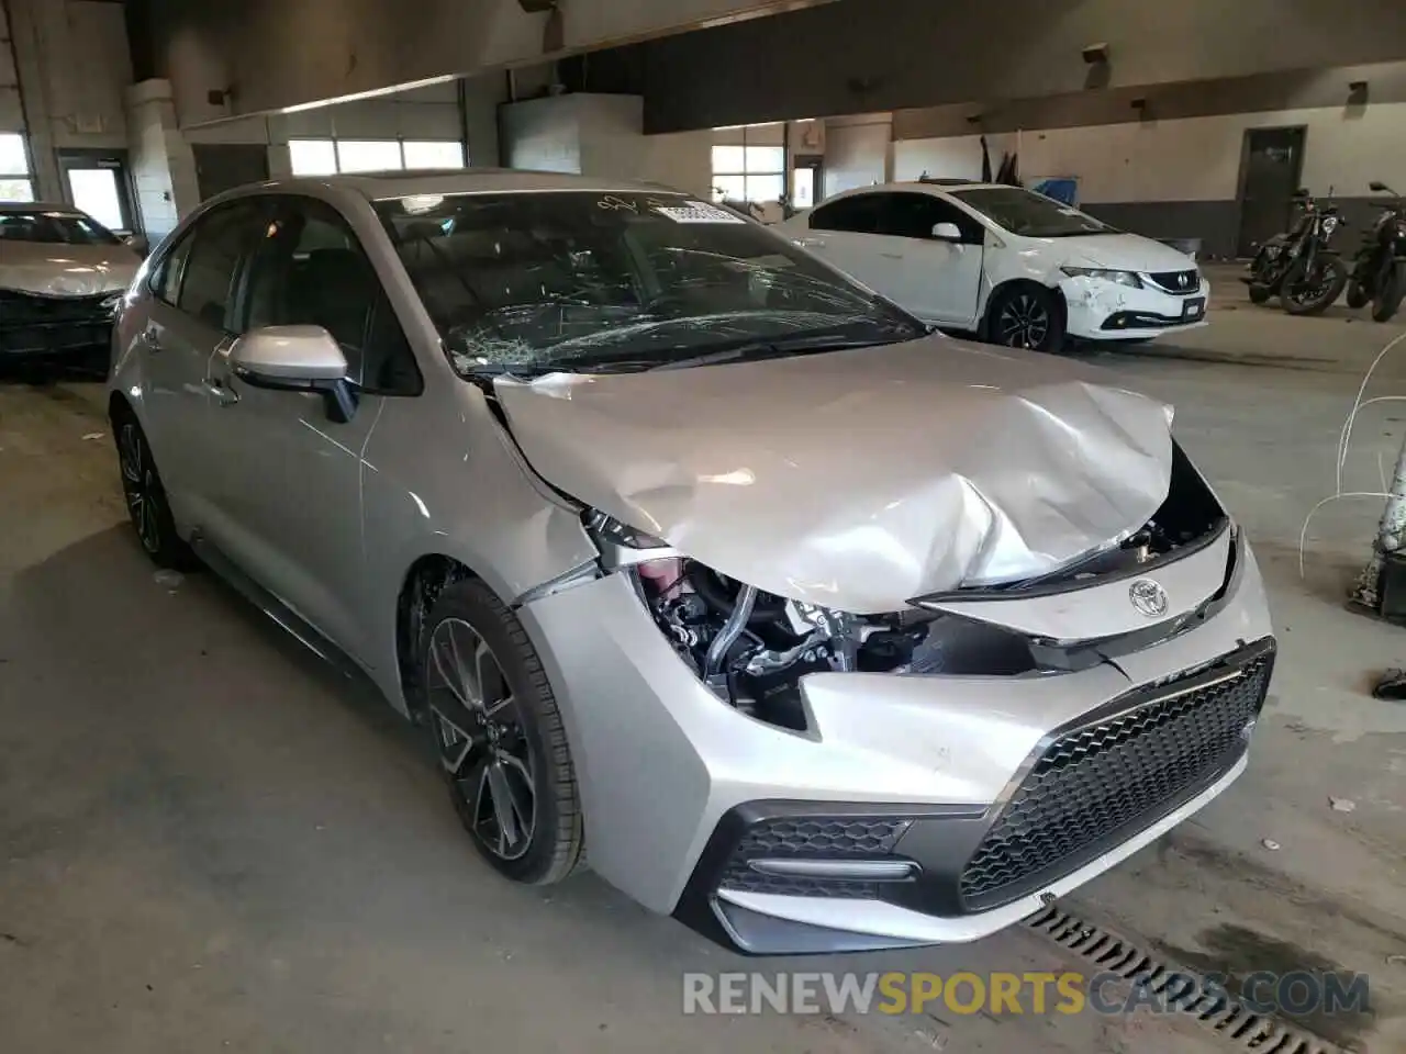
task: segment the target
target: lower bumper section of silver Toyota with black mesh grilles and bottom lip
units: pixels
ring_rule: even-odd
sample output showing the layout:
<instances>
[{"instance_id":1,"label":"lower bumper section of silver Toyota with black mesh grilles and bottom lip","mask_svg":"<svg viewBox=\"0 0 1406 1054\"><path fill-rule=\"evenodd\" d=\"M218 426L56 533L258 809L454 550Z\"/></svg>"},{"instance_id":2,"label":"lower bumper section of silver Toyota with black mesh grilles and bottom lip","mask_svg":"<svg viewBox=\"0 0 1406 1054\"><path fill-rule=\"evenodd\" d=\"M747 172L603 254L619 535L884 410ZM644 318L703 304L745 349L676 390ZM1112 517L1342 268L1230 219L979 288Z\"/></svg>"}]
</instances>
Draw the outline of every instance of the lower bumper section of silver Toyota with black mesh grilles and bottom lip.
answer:
<instances>
[{"instance_id":1,"label":"lower bumper section of silver Toyota with black mesh grilles and bottom lip","mask_svg":"<svg viewBox=\"0 0 1406 1054\"><path fill-rule=\"evenodd\" d=\"M1272 666L1272 641L1258 641L1191 676L1136 689L1045 736L986 809L735 807L675 913L766 954L993 933L1229 786L1244 767Z\"/></svg>"}]
</instances>

